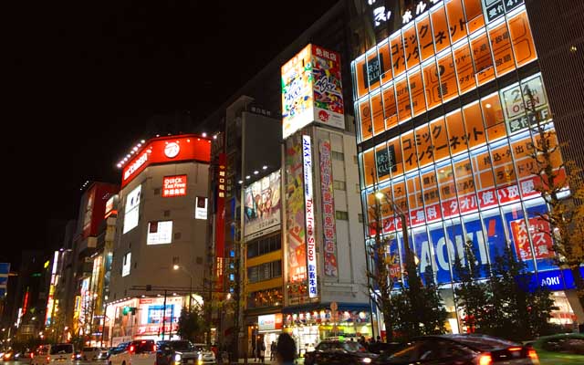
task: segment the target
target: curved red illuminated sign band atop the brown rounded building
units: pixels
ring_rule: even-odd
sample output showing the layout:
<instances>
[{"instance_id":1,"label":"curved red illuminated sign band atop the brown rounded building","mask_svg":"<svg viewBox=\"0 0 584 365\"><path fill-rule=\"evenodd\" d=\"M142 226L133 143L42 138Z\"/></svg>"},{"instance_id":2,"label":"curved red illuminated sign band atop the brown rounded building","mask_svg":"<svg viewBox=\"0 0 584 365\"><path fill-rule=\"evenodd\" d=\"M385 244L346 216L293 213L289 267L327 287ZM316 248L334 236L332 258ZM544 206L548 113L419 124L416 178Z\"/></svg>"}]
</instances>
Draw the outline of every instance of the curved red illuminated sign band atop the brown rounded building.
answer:
<instances>
[{"instance_id":1,"label":"curved red illuminated sign band atop the brown rounded building","mask_svg":"<svg viewBox=\"0 0 584 365\"><path fill-rule=\"evenodd\" d=\"M209 162L211 141L194 134L168 136L147 141L135 157L124 166L121 186L124 187L146 167L156 163L184 161Z\"/></svg>"}]
</instances>

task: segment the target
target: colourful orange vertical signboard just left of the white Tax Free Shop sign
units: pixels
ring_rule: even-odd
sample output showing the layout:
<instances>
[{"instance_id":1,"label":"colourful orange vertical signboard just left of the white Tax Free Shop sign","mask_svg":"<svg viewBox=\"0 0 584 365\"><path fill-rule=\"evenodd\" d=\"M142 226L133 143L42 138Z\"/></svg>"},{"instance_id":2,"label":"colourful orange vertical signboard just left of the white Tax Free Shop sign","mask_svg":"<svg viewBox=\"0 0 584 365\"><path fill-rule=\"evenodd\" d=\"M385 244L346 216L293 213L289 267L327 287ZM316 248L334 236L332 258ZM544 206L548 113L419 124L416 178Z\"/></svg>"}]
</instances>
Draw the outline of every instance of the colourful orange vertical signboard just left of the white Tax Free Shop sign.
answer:
<instances>
[{"instance_id":1,"label":"colourful orange vertical signboard just left of the white Tax Free Shop sign","mask_svg":"<svg viewBox=\"0 0 584 365\"><path fill-rule=\"evenodd\" d=\"M307 279L302 142L299 137L295 134L288 138L285 151L287 297L292 303L298 303L305 297L304 284Z\"/></svg>"}]
</instances>

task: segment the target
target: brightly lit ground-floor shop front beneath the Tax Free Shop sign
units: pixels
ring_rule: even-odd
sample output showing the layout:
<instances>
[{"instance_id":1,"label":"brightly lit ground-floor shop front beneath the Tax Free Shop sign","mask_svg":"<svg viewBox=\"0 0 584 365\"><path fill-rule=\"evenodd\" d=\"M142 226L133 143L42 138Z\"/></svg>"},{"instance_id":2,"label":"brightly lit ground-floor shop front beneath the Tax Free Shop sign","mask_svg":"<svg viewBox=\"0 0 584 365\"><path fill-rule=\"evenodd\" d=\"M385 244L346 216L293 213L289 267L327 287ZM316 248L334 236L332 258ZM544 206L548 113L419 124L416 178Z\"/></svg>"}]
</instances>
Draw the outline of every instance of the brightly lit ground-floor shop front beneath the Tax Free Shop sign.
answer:
<instances>
[{"instance_id":1,"label":"brightly lit ground-floor shop front beneath the Tax Free Shop sign","mask_svg":"<svg viewBox=\"0 0 584 365\"><path fill-rule=\"evenodd\" d=\"M297 310L284 315L283 330L289 333L297 343L300 356L312 351L323 339L331 337L370 339L372 335L370 312L366 306L344 307L331 311L330 308Z\"/></svg>"}]
</instances>

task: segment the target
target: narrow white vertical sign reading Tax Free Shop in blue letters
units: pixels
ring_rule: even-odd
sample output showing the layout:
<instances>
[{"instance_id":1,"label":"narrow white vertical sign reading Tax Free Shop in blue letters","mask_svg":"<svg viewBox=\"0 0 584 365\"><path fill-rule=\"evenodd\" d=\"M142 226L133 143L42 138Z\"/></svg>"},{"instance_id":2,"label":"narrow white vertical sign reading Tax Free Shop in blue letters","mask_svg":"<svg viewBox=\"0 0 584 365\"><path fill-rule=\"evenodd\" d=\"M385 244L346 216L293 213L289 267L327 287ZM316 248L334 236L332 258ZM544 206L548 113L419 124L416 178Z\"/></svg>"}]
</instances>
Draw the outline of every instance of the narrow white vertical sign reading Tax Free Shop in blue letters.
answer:
<instances>
[{"instance_id":1,"label":"narrow white vertical sign reading Tax Free Shop in blue letters","mask_svg":"<svg viewBox=\"0 0 584 365\"><path fill-rule=\"evenodd\" d=\"M307 220L307 271L308 297L318 297L317 245L315 240L314 194L312 193L312 145L310 136L302 136L302 161L304 162L304 203Z\"/></svg>"}]
</instances>

